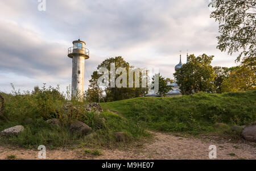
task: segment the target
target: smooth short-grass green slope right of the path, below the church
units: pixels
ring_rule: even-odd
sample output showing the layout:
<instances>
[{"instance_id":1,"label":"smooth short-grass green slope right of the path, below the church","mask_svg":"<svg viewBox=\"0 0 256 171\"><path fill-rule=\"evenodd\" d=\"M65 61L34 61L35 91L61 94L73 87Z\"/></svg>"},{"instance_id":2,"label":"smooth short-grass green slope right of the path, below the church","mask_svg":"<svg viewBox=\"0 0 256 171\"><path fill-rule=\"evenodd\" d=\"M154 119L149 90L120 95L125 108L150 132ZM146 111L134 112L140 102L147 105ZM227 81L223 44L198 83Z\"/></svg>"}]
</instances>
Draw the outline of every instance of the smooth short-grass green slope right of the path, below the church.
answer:
<instances>
[{"instance_id":1,"label":"smooth short-grass green slope right of the path, below the church","mask_svg":"<svg viewBox=\"0 0 256 171\"><path fill-rule=\"evenodd\" d=\"M214 127L245 125L256 120L256 91L225 94L198 93L183 97L134 98L101 103L104 109L119 112L143 128L156 131L231 132Z\"/></svg>"}]
</instances>

